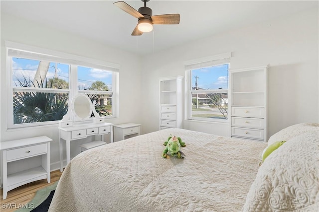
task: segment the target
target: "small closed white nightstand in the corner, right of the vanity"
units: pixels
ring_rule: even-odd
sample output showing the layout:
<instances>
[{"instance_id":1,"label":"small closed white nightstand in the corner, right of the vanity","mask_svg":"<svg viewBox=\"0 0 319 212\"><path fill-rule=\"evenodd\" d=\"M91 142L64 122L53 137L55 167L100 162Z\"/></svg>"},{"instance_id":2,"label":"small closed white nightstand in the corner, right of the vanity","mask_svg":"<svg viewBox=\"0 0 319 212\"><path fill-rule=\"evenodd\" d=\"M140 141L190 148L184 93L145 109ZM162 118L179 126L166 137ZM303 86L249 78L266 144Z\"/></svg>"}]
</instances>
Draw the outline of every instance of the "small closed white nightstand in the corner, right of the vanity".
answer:
<instances>
[{"instance_id":1,"label":"small closed white nightstand in the corner, right of the vanity","mask_svg":"<svg viewBox=\"0 0 319 212\"><path fill-rule=\"evenodd\" d=\"M114 125L114 141L121 141L140 135L140 124L126 123Z\"/></svg>"}]
</instances>

